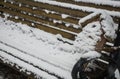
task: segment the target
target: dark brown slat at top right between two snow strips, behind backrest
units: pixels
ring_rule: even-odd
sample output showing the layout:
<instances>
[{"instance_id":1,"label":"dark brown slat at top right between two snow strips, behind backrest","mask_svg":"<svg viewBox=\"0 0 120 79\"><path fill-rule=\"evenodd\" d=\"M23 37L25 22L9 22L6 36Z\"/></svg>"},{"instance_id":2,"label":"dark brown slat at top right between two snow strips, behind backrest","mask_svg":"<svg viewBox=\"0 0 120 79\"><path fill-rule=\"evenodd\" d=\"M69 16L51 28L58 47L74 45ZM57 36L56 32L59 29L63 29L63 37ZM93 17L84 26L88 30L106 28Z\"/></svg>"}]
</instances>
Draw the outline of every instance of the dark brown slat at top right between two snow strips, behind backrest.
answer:
<instances>
[{"instance_id":1,"label":"dark brown slat at top right between two snow strips, behind backrest","mask_svg":"<svg viewBox=\"0 0 120 79\"><path fill-rule=\"evenodd\" d=\"M75 5L79 5L79 6L93 7L93 8L96 8L96 9L103 9L103 10L120 12L120 7L116 7L116 6L112 6L112 5L106 5L106 4L98 5L98 4L87 3L87 2L75 2L73 0L55 0L55 1L64 2L64 3L70 3L70 4L75 4ZM113 20L116 23L119 23L118 20L120 20L120 17L114 17L114 16L112 16L112 17L113 17Z\"/></svg>"}]
</instances>

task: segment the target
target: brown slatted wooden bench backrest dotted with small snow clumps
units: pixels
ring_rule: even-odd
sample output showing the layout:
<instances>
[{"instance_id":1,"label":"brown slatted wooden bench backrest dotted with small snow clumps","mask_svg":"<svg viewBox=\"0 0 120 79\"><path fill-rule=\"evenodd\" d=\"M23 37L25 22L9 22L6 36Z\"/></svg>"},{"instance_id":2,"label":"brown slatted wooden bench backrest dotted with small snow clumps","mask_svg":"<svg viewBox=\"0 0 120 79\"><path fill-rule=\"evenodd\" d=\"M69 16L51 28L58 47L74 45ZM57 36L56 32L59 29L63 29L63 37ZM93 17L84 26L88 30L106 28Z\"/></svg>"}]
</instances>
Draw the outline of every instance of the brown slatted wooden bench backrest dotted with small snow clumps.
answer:
<instances>
[{"instance_id":1,"label":"brown slatted wooden bench backrest dotted with small snow clumps","mask_svg":"<svg viewBox=\"0 0 120 79\"><path fill-rule=\"evenodd\" d=\"M8 19L53 34L61 34L71 40L81 32L82 27L99 18L99 14L96 14L89 21L79 24L81 18L91 13L31 0L2 0L0 4L0 11L9 14Z\"/></svg>"}]
</instances>

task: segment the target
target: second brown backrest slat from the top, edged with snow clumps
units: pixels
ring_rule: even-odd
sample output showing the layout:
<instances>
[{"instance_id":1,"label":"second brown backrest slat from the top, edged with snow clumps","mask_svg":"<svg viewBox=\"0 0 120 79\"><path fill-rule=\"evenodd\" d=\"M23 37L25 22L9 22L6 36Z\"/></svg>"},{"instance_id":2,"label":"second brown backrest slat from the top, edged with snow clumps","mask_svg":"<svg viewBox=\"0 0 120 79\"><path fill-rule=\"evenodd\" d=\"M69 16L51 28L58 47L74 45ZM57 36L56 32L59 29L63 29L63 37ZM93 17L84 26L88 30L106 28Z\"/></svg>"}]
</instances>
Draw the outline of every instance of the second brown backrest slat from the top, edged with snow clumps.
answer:
<instances>
[{"instance_id":1,"label":"second brown backrest slat from the top, edged with snow clumps","mask_svg":"<svg viewBox=\"0 0 120 79\"><path fill-rule=\"evenodd\" d=\"M78 24L78 21L79 21L79 19L75 19L73 17L67 17L67 18L63 19L61 17L61 14L57 14L57 13L49 13L49 14L47 14L42 9L33 10L32 7L28 8L28 7L25 7L24 5L19 7L19 5L16 5L15 3L10 5L10 2L7 2L7 3L4 3L4 5L9 5L9 6L18 8L20 10L26 10L26 11L28 11L30 13L34 13L34 14L38 14L38 15L41 15L41 16L46 16L46 17L50 17L50 18L54 18L54 19L58 19L58 20L66 21L66 22L71 22L71 23L74 23L74 24Z\"/></svg>"}]
</instances>

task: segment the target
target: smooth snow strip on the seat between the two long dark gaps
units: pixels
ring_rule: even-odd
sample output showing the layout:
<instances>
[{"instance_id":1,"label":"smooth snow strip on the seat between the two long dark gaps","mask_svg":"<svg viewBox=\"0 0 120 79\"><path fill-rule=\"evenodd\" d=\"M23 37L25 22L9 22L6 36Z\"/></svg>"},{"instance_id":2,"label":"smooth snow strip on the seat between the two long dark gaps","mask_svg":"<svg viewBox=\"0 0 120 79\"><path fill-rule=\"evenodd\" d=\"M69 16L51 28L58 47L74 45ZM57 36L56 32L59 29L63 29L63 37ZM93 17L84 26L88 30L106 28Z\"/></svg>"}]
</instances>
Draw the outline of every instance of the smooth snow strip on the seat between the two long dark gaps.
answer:
<instances>
[{"instance_id":1,"label":"smooth snow strip on the seat between the two long dark gaps","mask_svg":"<svg viewBox=\"0 0 120 79\"><path fill-rule=\"evenodd\" d=\"M70 72L66 72L66 71L64 71L64 70L62 70L60 68L52 66L52 65L50 65L50 64L48 64L46 62L38 60L35 57L29 56L27 54L24 54L24 53L22 53L22 52L20 52L18 50L10 48L8 46L0 44L0 47L3 50L9 51L10 54L12 54L12 55L14 55L14 56L16 56L16 57L18 57L20 59L23 59L24 61L27 61L29 64L31 63L31 64L33 64L36 67L42 68L43 71L46 71L46 72L48 72L50 74L53 74L53 75L55 74L56 76L60 75L61 77L65 77L65 79L70 79L71 78L70 77ZM67 75L68 78L66 77L66 75Z\"/></svg>"}]
</instances>

